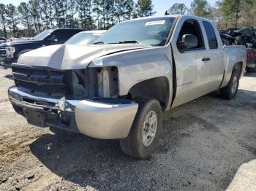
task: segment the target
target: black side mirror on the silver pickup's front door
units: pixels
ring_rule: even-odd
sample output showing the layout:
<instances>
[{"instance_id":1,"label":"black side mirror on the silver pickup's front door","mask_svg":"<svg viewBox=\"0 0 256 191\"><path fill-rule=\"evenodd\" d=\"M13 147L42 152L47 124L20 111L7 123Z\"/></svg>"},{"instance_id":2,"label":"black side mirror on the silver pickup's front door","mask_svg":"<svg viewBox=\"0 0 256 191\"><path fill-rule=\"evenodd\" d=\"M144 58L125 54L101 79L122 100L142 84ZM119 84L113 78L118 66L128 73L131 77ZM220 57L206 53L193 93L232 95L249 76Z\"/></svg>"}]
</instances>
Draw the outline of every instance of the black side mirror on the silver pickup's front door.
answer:
<instances>
[{"instance_id":1,"label":"black side mirror on the silver pickup's front door","mask_svg":"<svg viewBox=\"0 0 256 191\"><path fill-rule=\"evenodd\" d=\"M178 42L178 50L184 52L187 49L197 47L198 39L197 36L192 34L184 34L180 42Z\"/></svg>"}]
</instances>

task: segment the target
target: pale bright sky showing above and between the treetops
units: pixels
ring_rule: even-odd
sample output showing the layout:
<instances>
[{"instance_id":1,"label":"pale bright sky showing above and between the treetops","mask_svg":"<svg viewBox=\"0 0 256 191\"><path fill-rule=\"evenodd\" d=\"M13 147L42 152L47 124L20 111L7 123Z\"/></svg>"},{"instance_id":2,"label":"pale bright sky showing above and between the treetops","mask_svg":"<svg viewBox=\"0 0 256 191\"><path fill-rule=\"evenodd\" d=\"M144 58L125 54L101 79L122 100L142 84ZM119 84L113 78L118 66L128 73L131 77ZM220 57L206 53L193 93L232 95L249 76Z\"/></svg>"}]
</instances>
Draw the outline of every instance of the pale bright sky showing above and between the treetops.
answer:
<instances>
[{"instance_id":1,"label":"pale bright sky showing above and between the treetops","mask_svg":"<svg viewBox=\"0 0 256 191\"><path fill-rule=\"evenodd\" d=\"M18 6L20 2L22 1L29 1L29 0L0 0L1 4L14 4L15 6ZM208 2L211 4L211 6L215 5L215 2L217 0L208 0ZM187 5L187 7L190 7L192 0L153 0L154 4L154 11L157 12L157 15L163 15L165 14L165 11L172 6L175 3L184 3Z\"/></svg>"}]
</instances>

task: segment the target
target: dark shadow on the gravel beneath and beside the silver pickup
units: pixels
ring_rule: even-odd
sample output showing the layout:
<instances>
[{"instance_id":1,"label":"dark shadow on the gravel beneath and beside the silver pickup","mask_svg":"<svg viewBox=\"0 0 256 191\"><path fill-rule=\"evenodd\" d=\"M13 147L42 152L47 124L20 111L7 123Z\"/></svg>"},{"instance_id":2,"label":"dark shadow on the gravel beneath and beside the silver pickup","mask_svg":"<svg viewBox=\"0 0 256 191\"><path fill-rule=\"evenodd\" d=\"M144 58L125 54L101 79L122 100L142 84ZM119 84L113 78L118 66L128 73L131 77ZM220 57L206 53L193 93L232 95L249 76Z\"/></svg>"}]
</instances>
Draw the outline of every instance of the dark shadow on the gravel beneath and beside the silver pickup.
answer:
<instances>
[{"instance_id":1,"label":"dark shadow on the gravel beneath and beside the silver pickup","mask_svg":"<svg viewBox=\"0 0 256 191\"><path fill-rule=\"evenodd\" d=\"M241 90L234 101L211 93L166 112L159 148L148 160L127 157L116 140L58 129L41 136L30 149L54 174L81 187L225 190L239 166L256 158L255 127L242 122L246 115L247 122L254 115L244 111L255 111L256 100L244 102L244 93Z\"/></svg>"}]
</instances>

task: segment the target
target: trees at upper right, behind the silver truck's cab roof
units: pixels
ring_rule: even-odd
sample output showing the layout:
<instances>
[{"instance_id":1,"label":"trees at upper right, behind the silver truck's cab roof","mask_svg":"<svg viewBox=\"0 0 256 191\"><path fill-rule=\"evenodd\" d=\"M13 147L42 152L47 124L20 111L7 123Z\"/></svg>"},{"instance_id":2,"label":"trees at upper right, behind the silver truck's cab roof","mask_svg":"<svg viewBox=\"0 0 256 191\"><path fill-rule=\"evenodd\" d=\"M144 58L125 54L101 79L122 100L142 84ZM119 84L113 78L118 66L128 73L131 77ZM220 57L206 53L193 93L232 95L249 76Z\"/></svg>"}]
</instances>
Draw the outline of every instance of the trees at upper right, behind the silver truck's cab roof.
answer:
<instances>
[{"instance_id":1,"label":"trees at upper right, behind the silver truck's cab roof","mask_svg":"<svg viewBox=\"0 0 256 191\"><path fill-rule=\"evenodd\" d=\"M170 14L193 14L214 20L219 29L256 26L256 0L219 0L214 7L206 0L194 0L190 9L185 4L173 4Z\"/></svg>"}]
</instances>

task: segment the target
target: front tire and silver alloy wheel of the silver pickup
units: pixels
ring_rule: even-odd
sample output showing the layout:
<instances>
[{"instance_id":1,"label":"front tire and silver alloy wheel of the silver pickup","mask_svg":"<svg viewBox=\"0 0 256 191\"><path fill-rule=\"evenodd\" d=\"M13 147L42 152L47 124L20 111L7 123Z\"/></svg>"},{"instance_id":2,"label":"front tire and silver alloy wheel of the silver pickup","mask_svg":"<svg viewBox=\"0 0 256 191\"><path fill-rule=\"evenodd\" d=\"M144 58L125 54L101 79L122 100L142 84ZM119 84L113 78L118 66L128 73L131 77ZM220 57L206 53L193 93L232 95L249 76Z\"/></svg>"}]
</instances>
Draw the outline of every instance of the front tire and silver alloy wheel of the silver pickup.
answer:
<instances>
[{"instance_id":1,"label":"front tire and silver alloy wheel of the silver pickup","mask_svg":"<svg viewBox=\"0 0 256 191\"><path fill-rule=\"evenodd\" d=\"M157 148L161 136L162 108L156 99L137 98L136 101L139 104L138 112L129 136L120 140L120 147L124 154L130 157L146 159ZM149 117L148 119L151 119L152 122L146 123L146 117ZM151 128L149 128L150 125Z\"/></svg>"}]
</instances>

